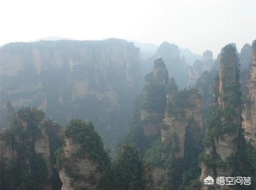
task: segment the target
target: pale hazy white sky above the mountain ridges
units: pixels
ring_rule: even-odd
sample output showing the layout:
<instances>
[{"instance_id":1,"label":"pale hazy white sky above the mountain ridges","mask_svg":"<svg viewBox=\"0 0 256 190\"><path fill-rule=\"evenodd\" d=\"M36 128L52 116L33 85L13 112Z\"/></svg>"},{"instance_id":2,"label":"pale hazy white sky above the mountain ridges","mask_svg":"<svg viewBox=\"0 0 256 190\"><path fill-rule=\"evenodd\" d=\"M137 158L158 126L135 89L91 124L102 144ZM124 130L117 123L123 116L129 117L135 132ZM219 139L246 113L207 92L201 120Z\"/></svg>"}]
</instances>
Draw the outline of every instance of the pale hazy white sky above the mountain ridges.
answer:
<instances>
[{"instance_id":1,"label":"pale hazy white sky above the mountain ridges","mask_svg":"<svg viewBox=\"0 0 256 190\"><path fill-rule=\"evenodd\" d=\"M0 45L48 36L167 41L214 57L256 39L256 0L2 0Z\"/></svg>"}]
</instances>

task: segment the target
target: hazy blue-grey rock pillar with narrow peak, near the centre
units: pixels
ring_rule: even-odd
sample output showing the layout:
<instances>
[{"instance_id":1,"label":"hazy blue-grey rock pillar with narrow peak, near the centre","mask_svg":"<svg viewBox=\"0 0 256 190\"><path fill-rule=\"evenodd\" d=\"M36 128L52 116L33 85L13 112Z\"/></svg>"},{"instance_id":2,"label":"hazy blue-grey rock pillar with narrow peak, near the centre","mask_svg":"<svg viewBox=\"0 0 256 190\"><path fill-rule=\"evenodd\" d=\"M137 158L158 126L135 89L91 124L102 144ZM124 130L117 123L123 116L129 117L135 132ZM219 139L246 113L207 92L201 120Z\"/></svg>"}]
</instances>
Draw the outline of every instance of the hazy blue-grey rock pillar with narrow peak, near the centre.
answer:
<instances>
[{"instance_id":1,"label":"hazy blue-grey rock pillar with narrow peak, near the centre","mask_svg":"<svg viewBox=\"0 0 256 190\"><path fill-rule=\"evenodd\" d=\"M164 87L168 82L168 71L162 58L154 61L154 70L145 76L142 91L142 109L140 121L145 136L157 135L164 119L166 93Z\"/></svg>"}]
</instances>

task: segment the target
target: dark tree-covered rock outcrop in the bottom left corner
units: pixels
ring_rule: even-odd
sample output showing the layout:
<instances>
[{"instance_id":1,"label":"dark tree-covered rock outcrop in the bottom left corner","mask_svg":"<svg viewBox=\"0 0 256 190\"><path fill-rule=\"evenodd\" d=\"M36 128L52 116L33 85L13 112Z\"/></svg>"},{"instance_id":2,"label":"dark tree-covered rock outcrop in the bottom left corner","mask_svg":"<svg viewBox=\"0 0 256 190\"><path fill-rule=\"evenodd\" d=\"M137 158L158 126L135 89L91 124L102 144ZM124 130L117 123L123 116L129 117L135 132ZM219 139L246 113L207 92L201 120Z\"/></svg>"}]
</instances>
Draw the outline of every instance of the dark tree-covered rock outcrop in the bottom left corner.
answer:
<instances>
[{"instance_id":1,"label":"dark tree-covered rock outcrop in the bottom left corner","mask_svg":"<svg viewBox=\"0 0 256 190\"><path fill-rule=\"evenodd\" d=\"M36 107L22 107L15 115L8 129L1 131L1 189L57 188L60 181L51 180L58 178L53 153L62 144L63 127L45 120Z\"/></svg>"}]
</instances>

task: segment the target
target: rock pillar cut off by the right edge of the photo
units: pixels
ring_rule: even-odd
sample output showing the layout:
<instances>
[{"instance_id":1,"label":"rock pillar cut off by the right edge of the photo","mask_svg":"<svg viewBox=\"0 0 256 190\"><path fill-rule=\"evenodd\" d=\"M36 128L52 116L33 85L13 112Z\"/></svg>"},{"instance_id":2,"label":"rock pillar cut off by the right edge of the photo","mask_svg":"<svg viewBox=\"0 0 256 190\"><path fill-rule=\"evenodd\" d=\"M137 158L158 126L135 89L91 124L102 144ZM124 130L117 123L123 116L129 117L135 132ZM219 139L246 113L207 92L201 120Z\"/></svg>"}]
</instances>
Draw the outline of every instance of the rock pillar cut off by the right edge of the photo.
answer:
<instances>
[{"instance_id":1,"label":"rock pillar cut off by the right edge of the photo","mask_svg":"<svg viewBox=\"0 0 256 190\"><path fill-rule=\"evenodd\" d=\"M245 138L256 146L256 40L252 43L252 59L247 80L249 103L243 111L243 128Z\"/></svg>"}]
</instances>

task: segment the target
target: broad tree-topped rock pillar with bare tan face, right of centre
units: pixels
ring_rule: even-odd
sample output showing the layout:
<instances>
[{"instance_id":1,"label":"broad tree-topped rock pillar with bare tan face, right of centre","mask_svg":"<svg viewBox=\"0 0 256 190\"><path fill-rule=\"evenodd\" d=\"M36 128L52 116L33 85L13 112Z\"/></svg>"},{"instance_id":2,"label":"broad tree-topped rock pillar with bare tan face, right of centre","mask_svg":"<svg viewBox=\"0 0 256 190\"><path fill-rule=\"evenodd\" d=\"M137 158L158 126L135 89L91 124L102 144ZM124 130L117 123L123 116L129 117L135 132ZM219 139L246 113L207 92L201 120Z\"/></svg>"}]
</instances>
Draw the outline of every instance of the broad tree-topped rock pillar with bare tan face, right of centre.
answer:
<instances>
[{"instance_id":1,"label":"broad tree-topped rock pillar with bare tan face, right of centre","mask_svg":"<svg viewBox=\"0 0 256 190\"><path fill-rule=\"evenodd\" d=\"M177 93L174 97L167 96L167 108L161 136L162 141L166 141L168 138L172 139L175 158L184 157L186 133L193 134L193 143L199 143L202 135L202 98L197 91L195 93L192 93L192 90L188 91L191 92L186 92L189 93L188 96L182 99L184 107L176 106L175 100L178 96L182 96L185 90Z\"/></svg>"}]
</instances>

